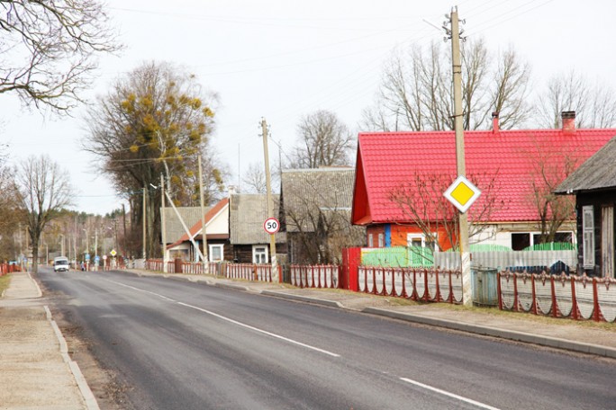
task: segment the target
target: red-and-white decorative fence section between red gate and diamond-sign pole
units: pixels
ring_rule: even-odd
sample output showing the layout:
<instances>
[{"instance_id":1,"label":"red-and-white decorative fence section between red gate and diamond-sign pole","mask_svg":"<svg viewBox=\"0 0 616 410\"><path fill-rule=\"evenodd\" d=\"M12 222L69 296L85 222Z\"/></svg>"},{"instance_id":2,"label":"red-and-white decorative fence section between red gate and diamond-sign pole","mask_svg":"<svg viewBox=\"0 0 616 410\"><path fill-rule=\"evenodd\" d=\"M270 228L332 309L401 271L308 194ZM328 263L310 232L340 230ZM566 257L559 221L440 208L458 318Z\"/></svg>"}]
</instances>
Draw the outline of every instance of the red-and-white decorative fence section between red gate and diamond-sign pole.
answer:
<instances>
[{"instance_id":1,"label":"red-and-white decorative fence section between red gate and diamond-sign pole","mask_svg":"<svg viewBox=\"0 0 616 410\"><path fill-rule=\"evenodd\" d=\"M430 302L462 302L462 274L459 271L359 266L358 288L360 292L375 295Z\"/></svg>"}]
</instances>

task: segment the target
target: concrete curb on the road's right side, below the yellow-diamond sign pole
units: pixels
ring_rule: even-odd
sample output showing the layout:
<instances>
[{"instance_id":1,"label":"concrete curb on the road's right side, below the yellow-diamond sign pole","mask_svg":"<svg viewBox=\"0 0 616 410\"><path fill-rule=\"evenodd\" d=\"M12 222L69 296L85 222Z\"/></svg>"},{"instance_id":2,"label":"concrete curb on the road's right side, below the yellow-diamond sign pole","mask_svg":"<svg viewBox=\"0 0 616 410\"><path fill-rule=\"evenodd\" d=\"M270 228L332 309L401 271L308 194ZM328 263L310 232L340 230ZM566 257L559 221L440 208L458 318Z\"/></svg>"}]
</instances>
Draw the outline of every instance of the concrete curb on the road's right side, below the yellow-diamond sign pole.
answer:
<instances>
[{"instance_id":1,"label":"concrete curb on the road's right side, below the yellow-diamond sign pole","mask_svg":"<svg viewBox=\"0 0 616 410\"><path fill-rule=\"evenodd\" d=\"M379 316L392 317L394 319L402 319L408 322L421 323L422 325L432 325L446 327L448 329L459 330L473 334L483 334L486 336L499 337L517 342L533 343L542 346L564 349L572 352L583 352L595 354L603 357L616 359L616 349L606 346L600 346L592 343L572 342L570 340L559 339L557 337L544 336L539 334L528 334L517 332L514 330L501 329L498 327L487 327L482 325L470 325L464 323L453 322L447 319L437 319L433 317L418 316L403 312L394 312L379 307L365 307L362 312Z\"/></svg>"}]
</instances>

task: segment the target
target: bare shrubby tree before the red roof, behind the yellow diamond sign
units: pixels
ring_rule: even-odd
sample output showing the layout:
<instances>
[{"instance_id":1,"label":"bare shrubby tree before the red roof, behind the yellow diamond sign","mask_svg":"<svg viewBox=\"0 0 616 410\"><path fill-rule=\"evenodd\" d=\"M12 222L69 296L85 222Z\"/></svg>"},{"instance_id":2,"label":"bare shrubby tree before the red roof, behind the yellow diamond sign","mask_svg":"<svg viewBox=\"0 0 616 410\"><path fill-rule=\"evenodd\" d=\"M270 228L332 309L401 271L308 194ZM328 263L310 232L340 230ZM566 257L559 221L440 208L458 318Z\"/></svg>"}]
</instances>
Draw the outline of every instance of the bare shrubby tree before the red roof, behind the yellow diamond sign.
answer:
<instances>
[{"instance_id":1,"label":"bare shrubby tree before the red roof, behind the yellow diamond sign","mask_svg":"<svg viewBox=\"0 0 616 410\"><path fill-rule=\"evenodd\" d=\"M467 179L482 187L480 199L467 210L468 237L477 238L489 233L489 226L482 222L489 221L494 210L506 208L509 204L497 198L500 185L494 173L469 174ZM407 221L407 225L418 227L426 244L433 250L446 251L449 247L457 249L459 245L459 211L443 195L454 180L454 174L417 171L388 195L389 201L394 202L400 210L401 219ZM411 250L421 252L412 247Z\"/></svg>"}]
</instances>

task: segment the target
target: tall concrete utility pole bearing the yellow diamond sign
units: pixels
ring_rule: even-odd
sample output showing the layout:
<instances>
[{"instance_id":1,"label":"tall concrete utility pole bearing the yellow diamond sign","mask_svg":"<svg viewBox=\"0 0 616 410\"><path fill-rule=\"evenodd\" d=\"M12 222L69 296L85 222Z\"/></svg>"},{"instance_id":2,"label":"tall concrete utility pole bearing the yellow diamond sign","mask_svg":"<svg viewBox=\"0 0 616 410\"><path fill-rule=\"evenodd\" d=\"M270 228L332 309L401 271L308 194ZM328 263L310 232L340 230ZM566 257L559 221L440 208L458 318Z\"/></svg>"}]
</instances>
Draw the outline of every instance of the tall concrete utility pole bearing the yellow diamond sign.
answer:
<instances>
[{"instance_id":1,"label":"tall concrete utility pole bearing the yellow diamond sign","mask_svg":"<svg viewBox=\"0 0 616 410\"><path fill-rule=\"evenodd\" d=\"M464 154L464 125L462 123L462 60L460 58L460 31L457 8L451 10L451 59L453 61L454 86L454 129L456 130L456 164L457 175L467 174ZM459 213L459 250L462 269L462 301L467 306L473 305L471 285L471 260L468 252L468 218L466 212Z\"/></svg>"}]
</instances>

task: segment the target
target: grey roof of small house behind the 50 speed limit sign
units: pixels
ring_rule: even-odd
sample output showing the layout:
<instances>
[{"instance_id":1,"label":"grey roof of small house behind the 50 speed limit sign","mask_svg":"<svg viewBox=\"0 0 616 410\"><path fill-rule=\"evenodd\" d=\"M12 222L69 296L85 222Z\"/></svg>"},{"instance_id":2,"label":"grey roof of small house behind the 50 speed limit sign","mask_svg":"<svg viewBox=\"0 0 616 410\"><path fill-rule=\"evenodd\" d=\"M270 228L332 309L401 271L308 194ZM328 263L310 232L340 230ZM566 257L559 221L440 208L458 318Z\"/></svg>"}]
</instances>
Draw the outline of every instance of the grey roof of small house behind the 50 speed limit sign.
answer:
<instances>
[{"instance_id":1,"label":"grey roof of small house behind the 50 speed limit sign","mask_svg":"<svg viewBox=\"0 0 616 410\"><path fill-rule=\"evenodd\" d=\"M273 195L274 215L278 215L280 195ZM230 198L229 229L231 230L231 244L257 245L268 244L269 235L263 229L263 222L267 219L267 195L263 194L234 194ZM285 242L284 234L276 234L276 242Z\"/></svg>"}]
</instances>

